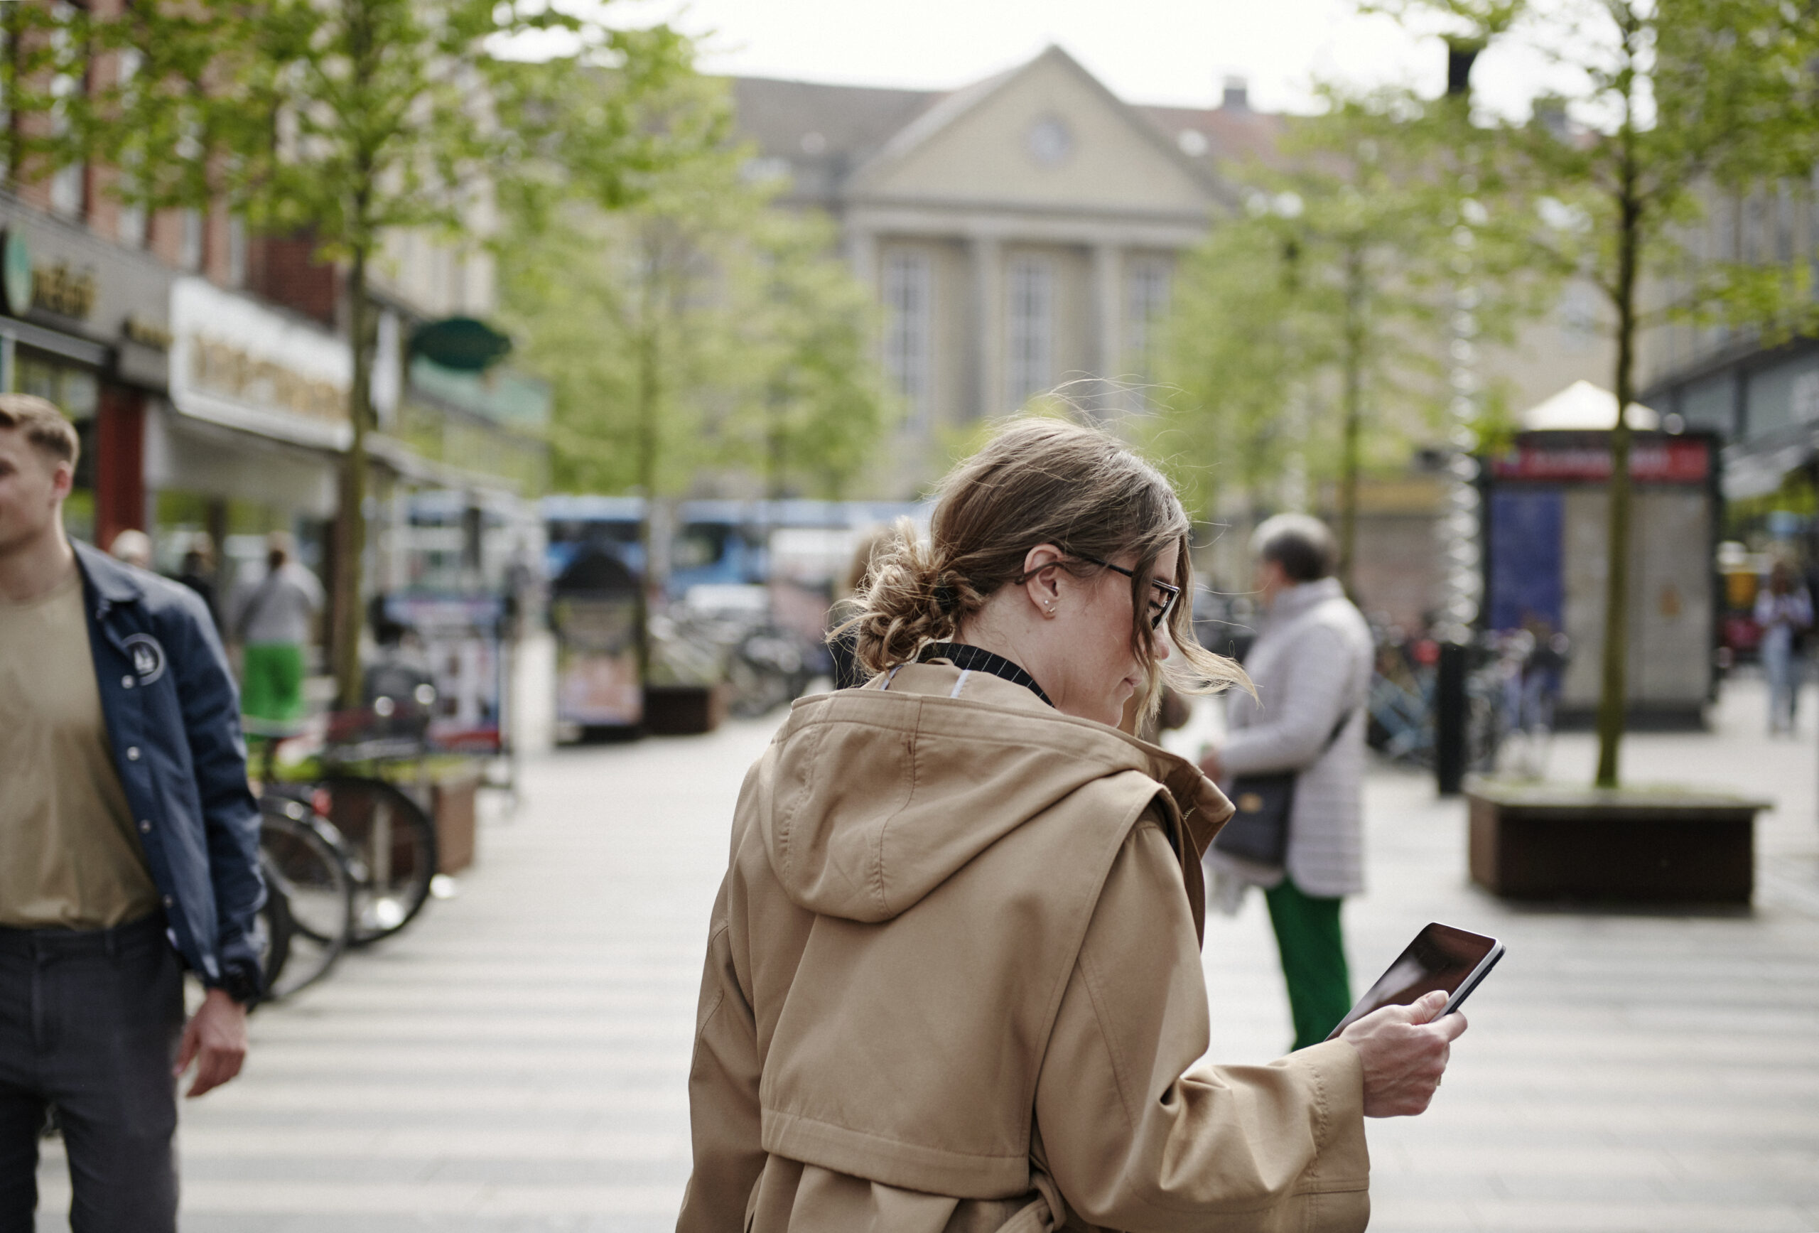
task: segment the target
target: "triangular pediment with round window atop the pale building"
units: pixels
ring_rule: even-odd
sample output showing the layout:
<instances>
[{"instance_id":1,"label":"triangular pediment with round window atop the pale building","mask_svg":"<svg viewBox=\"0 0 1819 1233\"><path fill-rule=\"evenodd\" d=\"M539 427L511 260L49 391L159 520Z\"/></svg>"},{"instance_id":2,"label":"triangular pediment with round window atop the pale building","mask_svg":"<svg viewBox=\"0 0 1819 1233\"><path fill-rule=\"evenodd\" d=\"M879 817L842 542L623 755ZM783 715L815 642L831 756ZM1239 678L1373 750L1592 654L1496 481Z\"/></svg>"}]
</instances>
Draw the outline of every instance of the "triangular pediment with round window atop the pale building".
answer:
<instances>
[{"instance_id":1,"label":"triangular pediment with round window atop the pale building","mask_svg":"<svg viewBox=\"0 0 1819 1233\"><path fill-rule=\"evenodd\" d=\"M1217 182L1068 53L950 95L860 165L851 202L1204 216Z\"/></svg>"}]
</instances>

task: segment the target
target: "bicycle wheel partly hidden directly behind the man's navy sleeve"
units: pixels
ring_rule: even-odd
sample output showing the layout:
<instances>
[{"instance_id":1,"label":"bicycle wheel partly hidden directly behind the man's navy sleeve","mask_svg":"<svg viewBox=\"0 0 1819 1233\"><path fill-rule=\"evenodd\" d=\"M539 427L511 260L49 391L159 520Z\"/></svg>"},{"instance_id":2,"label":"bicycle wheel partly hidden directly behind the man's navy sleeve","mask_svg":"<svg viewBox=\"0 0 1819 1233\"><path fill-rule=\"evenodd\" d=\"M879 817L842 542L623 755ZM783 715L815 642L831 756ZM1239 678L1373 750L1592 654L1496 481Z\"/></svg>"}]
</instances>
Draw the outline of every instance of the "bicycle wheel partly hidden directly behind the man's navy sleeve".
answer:
<instances>
[{"instance_id":1,"label":"bicycle wheel partly hidden directly behind the man's navy sleeve","mask_svg":"<svg viewBox=\"0 0 1819 1233\"><path fill-rule=\"evenodd\" d=\"M258 842L286 926L266 997L284 998L326 977L353 938L357 858L326 818L284 797L260 802Z\"/></svg>"}]
</instances>

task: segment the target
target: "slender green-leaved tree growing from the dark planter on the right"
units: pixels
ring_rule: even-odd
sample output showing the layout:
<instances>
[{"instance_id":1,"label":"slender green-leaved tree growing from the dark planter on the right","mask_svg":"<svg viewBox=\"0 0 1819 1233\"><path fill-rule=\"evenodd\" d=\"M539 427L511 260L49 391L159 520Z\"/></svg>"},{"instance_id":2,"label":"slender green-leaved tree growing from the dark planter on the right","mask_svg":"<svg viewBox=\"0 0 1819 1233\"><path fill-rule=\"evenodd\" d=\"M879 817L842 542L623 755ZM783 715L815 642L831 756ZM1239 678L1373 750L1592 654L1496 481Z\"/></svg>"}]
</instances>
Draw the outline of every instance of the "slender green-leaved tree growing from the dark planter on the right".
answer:
<instances>
[{"instance_id":1,"label":"slender green-leaved tree growing from the dark planter on the right","mask_svg":"<svg viewBox=\"0 0 1819 1233\"><path fill-rule=\"evenodd\" d=\"M1455 45L1539 45L1577 78L1563 102L1583 125L1455 122L1452 140L1493 169L1508 200L1543 204L1566 226L1535 231L1535 260L1577 269L1615 320L1612 387L1621 407L1610 438L1610 524L1597 786L1615 787L1628 698L1630 447L1641 331L1661 320L1650 276L1672 296L1664 313L1786 320L1806 300L1804 276L1741 262L1690 260L1688 227L1715 189L1746 189L1814 169L1819 113L1814 64L1819 11L1794 0L1566 0L1533 5L1410 0L1395 13ZM1701 273L1684 278L1688 267Z\"/></svg>"}]
</instances>

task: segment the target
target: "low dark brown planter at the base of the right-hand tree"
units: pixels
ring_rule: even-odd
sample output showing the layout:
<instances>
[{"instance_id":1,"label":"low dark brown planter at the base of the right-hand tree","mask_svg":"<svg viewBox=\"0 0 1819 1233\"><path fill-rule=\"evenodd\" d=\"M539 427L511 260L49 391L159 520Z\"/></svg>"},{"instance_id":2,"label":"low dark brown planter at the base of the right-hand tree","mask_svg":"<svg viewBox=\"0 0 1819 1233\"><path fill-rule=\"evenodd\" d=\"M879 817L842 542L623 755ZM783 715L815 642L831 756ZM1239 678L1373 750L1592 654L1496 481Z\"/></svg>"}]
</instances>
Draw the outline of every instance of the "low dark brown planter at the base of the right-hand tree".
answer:
<instances>
[{"instance_id":1,"label":"low dark brown planter at the base of the right-hand tree","mask_svg":"<svg viewBox=\"0 0 1819 1233\"><path fill-rule=\"evenodd\" d=\"M1748 904L1766 800L1475 778L1472 880L1502 898Z\"/></svg>"}]
</instances>

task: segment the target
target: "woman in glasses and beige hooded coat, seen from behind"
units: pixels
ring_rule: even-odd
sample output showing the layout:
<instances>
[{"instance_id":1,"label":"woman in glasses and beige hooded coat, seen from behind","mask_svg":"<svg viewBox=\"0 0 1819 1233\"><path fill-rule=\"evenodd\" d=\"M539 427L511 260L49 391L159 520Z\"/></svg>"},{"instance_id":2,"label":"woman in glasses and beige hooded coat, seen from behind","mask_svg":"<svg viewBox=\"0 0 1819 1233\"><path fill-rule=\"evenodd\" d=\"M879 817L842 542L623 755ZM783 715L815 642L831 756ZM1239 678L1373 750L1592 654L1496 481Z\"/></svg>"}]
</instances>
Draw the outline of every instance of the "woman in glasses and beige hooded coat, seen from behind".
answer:
<instances>
[{"instance_id":1,"label":"woman in glasses and beige hooded coat, seen from behind","mask_svg":"<svg viewBox=\"0 0 1819 1233\"><path fill-rule=\"evenodd\" d=\"M880 555L859 689L746 777L678 1229L1362 1229L1364 1117L1419 1113L1430 997L1210 1066L1199 858L1231 813L1117 731L1202 651L1188 518L1093 429L1013 422Z\"/></svg>"}]
</instances>

